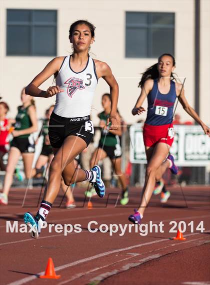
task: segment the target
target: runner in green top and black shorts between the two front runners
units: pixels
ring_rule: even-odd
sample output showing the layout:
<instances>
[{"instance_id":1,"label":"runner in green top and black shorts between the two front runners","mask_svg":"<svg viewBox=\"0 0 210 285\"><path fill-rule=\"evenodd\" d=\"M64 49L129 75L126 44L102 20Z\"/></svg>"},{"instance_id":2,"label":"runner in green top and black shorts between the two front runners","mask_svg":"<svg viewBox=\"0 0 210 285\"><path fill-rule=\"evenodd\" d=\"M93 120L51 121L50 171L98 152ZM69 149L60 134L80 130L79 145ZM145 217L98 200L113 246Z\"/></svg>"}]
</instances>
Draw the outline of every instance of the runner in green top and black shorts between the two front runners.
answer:
<instances>
[{"instance_id":1,"label":"runner in green top and black shorts between the two front runners","mask_svg":"<svg viewBox=\"0 0 210 285\"><path fill-rule=\"evenodd\" d=\"M106 120L110 114L111 110L111 96L109 93L102 95L101 104L103 111L98 114L100 119L99 126L101 128L101 136L98 144L98 148L94 151L91 161L90 168L92 165L98 163L99 160L103 160L105 157L109 157L112 162L115 175L117 175L119 182L121 184L121 199L120 204L126 205L128 203L128 187L126 184L126 179L124 173L121 171L121 146L120 137L123 133L124 124L122 123L122 118L117 110L117 119L121 122L121 126L117 130L110 130L109 126L106 125ZM95 195L94 188L91 188L84 193L87 197Z\"/></svg>"}]
</instances>

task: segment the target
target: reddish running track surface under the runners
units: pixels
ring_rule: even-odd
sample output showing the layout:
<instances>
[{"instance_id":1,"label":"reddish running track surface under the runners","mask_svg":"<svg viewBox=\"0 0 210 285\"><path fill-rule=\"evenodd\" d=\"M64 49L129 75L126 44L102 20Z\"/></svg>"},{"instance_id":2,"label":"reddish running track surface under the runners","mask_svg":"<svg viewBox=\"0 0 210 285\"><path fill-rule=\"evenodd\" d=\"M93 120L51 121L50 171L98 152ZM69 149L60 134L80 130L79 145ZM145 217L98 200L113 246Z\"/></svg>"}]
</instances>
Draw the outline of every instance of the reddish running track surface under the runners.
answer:
<instances>
[{"instance_id":1,"label":"reddish running track surface under the runners","mask_svg":"<svg viewBox=\"0 0 210 285\"><path fill-rule=\"evenodd\" d=\"M120 230L110 236L110 231L90 233L87 224L91 220L91 228L100 224L129 224L127 216L138 206L139 189L130 189L128 206L115 207L117 189L109 189L104 199L93 198L93 208L87 208L83 200L83 189L76 189L75 209L53 207L47 218L48 224L81 224L80 233L49 233L43 229L39 239L34 240L28 233L6 233L6 221L17 220L22 223L25 211L35 213L39 189L28 190L24 205L24 189L12 189L8 206L0 206L0 284L210 284L210 188L185 187L183 193L179 187L171 189L171 197L167 204L160 205L159 196L153 196L149 207L145 210L143 223L158 224L163 221L163 233L148 232L139 235L132 228L123 236ZM55 201L60 204L61 196ZM33 207L32 207L33 206ZM170 233L169 222L194 221L193 232L186 227L185 241L169 239L175 236ZM196 231L200 221L204 223L204 232ZM176 228L177 229L177 228ZM58 280L40 279L48 257L52 257Z\"/></svg>"}]
</instances>

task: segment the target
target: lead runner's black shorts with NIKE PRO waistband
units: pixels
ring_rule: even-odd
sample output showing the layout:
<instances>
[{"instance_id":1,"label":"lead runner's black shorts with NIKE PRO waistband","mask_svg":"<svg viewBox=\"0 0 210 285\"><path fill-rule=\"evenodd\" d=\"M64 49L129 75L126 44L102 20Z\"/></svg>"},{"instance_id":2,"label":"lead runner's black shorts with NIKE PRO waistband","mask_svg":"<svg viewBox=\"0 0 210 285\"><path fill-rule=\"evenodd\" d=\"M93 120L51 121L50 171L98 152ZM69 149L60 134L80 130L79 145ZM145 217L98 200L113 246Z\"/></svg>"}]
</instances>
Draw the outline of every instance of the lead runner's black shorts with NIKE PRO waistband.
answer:
<instances>
[{"instance_id":1,"label":"lead runner's black shorts with NIKE PRO waistband","mask_svg":"<svg viewBox=\"0 0 210 285\"><path fill-rule=\"evenodd\" d=\"M83 139L88 146L94 134L94 128L89 116L64 118L52 112L49 120L49 141L53 148L60 148L68 136Z\"/></svg>"}]
</instances>

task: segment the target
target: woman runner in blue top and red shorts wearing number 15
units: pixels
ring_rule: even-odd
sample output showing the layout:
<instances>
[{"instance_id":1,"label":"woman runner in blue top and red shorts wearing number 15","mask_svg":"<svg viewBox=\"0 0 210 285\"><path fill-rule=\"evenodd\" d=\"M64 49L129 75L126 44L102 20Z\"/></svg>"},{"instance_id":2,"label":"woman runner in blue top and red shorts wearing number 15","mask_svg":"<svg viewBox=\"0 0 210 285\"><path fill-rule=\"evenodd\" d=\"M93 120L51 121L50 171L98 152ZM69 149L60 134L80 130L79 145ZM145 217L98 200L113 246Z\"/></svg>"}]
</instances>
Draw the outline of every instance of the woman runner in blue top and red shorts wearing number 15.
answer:
<instances>
[{"instance_id":1,"label":"woman runner in blue top and red shorts wearing number 15","mask_svg":"<svg viewBox=\"0 0 210 285\"><path fill-rule=\"evenodd\" d=\"M140 207L128 217L133 223L140 224L155 187L155 181L161 179L167 168L173 174L177 174L178 168L174 164L173 156L168 155L173 142L172 117L176 98L183 109L202 127L204 133L208 136L210 134L209 128L186 101L182 84L173 81L175 80L172 73L174 68L174 57L170 54L163 54L156 64L143 73L138 85L141 87L141 93L132 109L132 115L139 115L145 111L141 105L147 97L147 117L143 127L147 167Z\"/></svg>"}]
</instances>

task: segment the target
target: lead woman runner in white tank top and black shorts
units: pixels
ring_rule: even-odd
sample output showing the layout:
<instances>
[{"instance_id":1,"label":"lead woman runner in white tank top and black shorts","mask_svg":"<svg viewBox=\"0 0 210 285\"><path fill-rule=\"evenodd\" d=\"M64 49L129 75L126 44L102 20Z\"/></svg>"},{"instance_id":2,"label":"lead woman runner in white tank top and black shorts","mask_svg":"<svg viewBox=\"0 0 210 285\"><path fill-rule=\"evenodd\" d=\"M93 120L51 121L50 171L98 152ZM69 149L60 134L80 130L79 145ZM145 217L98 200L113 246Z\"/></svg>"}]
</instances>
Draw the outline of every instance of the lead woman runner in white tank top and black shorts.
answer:
<instances>
[{"instance_id":1,"label":"lead woman runner in white tank top and black shorts","mask_svg":"<svg viewBox=\"0 0 210 285\"><path fill-rule=\"evenodd\" d=\"M49 168L47 189L35 217L29 212L24 214L24 222L33 226L31 236L38 237L54 199L56 198L62 175L66 185L88 180L92 183L99 197L105 194L105 187L100 177L100 168L96 165L91 170L76 169L73 159L90 143L93 125L89 118L90 109L97 81L102 77L111 90L111 112L107 120L110 129L117 129L116 107L118 85L109 66L93 60L88 49L94 42L95 27L87 21L79 20L69 29L69 40L73 45L73 54L57 57L26 87L26 93L48 98L56 95L56 102L49 122L49 140L54 158ZM55 76L56 86L46 91L38 87L51 75Z\"/></svg>"}]
</instances>

